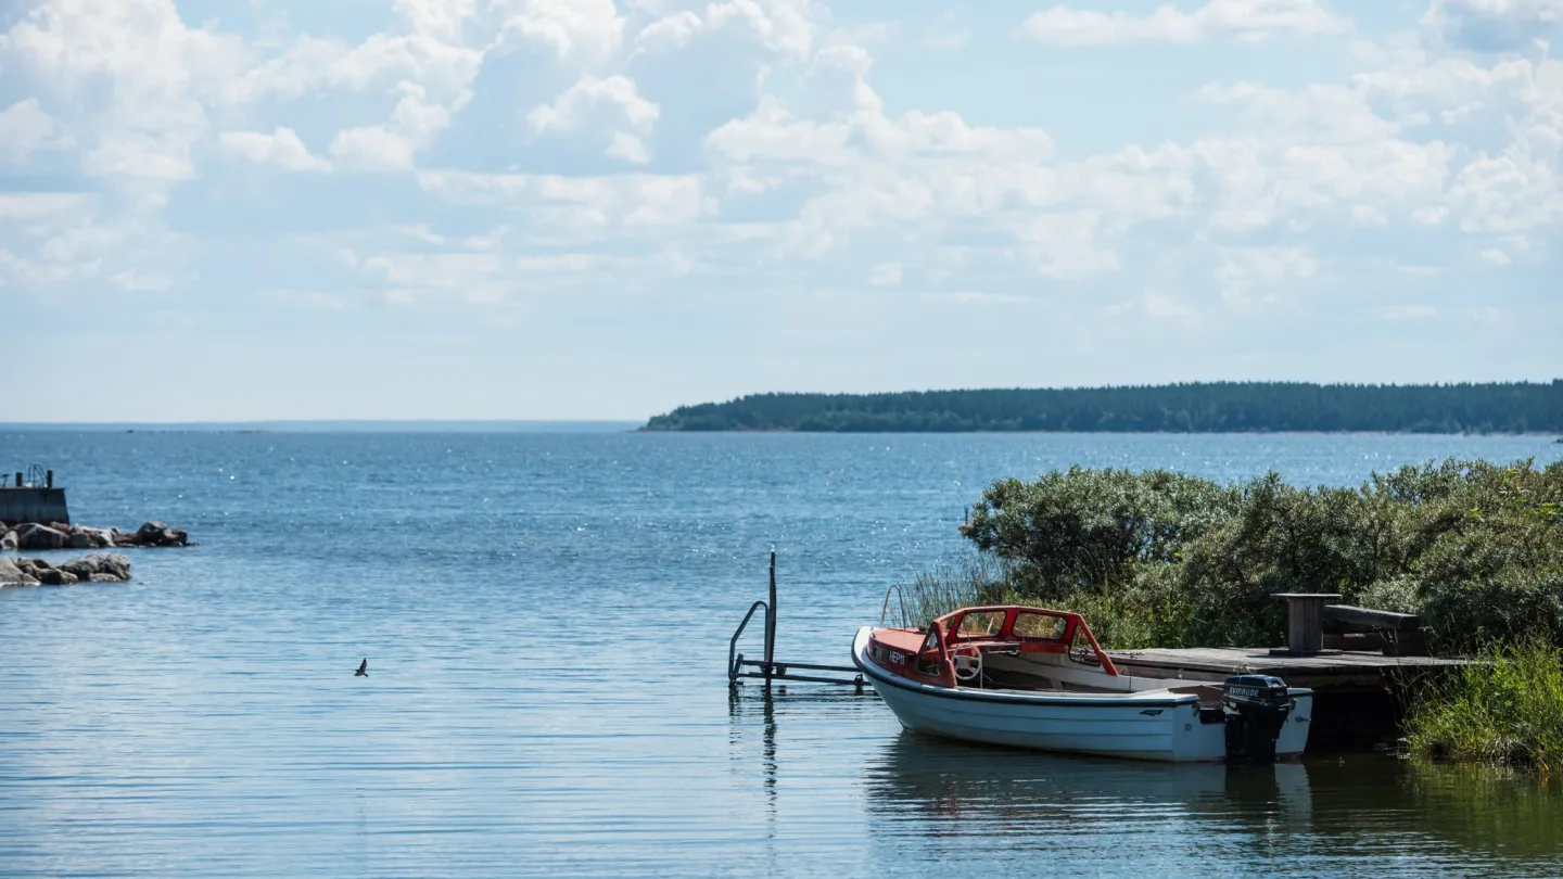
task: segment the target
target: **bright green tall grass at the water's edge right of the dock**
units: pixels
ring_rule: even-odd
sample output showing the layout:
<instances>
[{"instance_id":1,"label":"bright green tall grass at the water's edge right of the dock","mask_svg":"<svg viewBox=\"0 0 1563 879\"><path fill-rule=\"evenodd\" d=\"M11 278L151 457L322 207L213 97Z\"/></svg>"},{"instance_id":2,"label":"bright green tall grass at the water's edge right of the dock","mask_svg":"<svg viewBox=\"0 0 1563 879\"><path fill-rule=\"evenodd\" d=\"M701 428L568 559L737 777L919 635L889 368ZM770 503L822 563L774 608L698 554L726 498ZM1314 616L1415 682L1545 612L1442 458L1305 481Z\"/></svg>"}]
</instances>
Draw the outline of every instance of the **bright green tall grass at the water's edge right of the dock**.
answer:
<instances>
[{"instance_id":1,"label":"bright green tall grass at the water's edge right of the dock","mask_svg":"<svg viewBox=\"0 0 1563 879\"><path fill-rule=\"evenodd\" d=\"M1494 644L1411 704L1413 752L1550 774L1563 768L1563 654L1544 638Z\"/></svg>"}]
</instances>

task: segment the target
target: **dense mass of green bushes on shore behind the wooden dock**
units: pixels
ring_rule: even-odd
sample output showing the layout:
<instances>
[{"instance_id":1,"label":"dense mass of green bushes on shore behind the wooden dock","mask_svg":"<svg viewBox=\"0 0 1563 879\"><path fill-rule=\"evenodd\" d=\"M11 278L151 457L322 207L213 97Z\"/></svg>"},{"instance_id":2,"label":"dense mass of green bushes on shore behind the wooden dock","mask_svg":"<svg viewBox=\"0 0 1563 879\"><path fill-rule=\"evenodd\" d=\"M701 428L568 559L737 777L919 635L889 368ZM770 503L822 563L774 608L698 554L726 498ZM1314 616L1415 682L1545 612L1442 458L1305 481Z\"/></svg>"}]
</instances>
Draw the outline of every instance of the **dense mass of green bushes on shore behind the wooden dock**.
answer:
<instances>
[{"instance_id":1,"label":"dense mass of green bushes on shore behind the wooden dock","mask_svg":"<svg viewBox=\"0 0 1563 879\"><path fill-rule=\"evenodd\" d=\"M1124 649L1269 646L1285 641L1272 593L1332 591L1419 613L1443 651L1563 643L1563 463L1447 460L1358 488L1071 468L996 482L961 533L974 558L908 604L1077 610Z\"/></svg>"}]
</instances>

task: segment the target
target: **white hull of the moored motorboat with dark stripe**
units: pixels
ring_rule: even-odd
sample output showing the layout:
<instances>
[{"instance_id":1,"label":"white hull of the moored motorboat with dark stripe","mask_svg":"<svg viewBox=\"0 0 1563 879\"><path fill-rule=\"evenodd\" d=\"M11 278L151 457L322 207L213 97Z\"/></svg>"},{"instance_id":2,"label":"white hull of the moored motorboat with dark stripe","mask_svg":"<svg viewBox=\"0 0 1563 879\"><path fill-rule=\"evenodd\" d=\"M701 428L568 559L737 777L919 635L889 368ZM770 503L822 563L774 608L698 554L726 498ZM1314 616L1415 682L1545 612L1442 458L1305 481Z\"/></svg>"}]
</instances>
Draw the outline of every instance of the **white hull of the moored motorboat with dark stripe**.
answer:
<instances>
[{"instance_id":1,"label":"white hull of the moored motorboat with dark stripe","mask_svg":"<svg viewBox=\"0 0 1563 879\"><path fill-rule=\"evenodd\" d=\"M1136 693L1038 693L947 688L892 674L869 658L871 629L858 630L852 658L902 726L913 732L1069 754L1171 763L1218 762L1227 755L1221 723L1200 723L1199 696L1168 690ZM1313 693L1291 690L1275 755L1302 754Z\"/></svg>"}]
</instances>

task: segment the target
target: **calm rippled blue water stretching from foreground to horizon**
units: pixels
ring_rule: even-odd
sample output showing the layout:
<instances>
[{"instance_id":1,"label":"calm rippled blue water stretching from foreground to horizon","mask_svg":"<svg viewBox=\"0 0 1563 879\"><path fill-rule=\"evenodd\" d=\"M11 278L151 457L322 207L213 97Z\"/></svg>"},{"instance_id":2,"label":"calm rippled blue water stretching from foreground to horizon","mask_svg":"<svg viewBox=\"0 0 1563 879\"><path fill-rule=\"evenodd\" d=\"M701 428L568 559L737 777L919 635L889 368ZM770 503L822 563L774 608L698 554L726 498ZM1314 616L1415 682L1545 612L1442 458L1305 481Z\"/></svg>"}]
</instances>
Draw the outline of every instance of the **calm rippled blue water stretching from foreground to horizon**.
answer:
<instances>
[{"instance_id":1,"label":"calm rippled blue water stretching from foreground to horizon","mask_svg":"<svg viewBox=\"0 0 1563 879\"><path fill-rule=\"evenodd\" d=\"M0 590L0 874L1558 876L1563 796L1499 773L996 752L872 696L727 691L772 547L778 654L846 662L993 479L1444 455L1563 446L0 427L77 521L202 541L131 551L122 587Z\"/></svg>"}]
</instances>

